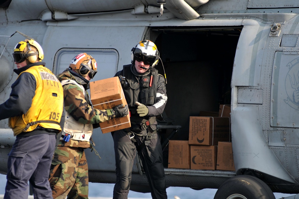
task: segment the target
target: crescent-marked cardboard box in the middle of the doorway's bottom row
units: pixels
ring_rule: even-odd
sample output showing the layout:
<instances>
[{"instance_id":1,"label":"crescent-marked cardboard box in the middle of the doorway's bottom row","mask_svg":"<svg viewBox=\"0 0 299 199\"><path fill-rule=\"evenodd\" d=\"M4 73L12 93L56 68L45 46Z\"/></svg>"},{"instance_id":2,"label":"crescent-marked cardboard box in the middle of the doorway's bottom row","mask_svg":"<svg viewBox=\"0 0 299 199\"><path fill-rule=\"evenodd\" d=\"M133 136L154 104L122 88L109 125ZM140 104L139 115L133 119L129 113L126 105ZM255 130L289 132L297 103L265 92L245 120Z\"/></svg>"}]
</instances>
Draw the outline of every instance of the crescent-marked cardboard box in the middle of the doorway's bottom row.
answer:
<instances>
[{"instance_id":1,"label":"crescent-marked cardboard box in the middle of the doorway's bottom row","mask_svg":"<svg viewBox=\"0 0 299 199\"><path fill-rule=\"evenodd\" d=\"M215 170L217 146L190 146L191 169Z\"/></svg>"}]
</instances>

